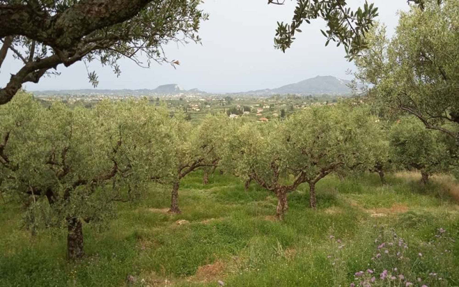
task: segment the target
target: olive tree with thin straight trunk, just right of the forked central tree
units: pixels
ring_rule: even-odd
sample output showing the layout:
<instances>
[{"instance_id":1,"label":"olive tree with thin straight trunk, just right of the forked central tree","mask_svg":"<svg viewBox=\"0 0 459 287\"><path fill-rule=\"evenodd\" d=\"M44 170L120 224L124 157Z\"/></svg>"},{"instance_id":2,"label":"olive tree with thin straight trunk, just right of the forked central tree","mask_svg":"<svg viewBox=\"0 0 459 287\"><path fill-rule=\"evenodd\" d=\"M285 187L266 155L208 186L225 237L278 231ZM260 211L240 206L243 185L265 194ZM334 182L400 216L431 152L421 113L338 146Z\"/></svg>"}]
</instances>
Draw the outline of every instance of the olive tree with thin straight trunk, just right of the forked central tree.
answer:
<instances>
[{"instance_id":1,"label":"olive tree with thin straight trunk, just right of the forked central tree","mask_svg":"<svg viewBox=\"0 0 459 287\"><path fill-rule=\"evenodd\" d=\"M301 113L285 124L289 161L297 162L309 185L309 203L316 208L315 185L337 169L365 170L375 166L381 134L365 107L321 107Z\"/></svg>"}]
</instances>

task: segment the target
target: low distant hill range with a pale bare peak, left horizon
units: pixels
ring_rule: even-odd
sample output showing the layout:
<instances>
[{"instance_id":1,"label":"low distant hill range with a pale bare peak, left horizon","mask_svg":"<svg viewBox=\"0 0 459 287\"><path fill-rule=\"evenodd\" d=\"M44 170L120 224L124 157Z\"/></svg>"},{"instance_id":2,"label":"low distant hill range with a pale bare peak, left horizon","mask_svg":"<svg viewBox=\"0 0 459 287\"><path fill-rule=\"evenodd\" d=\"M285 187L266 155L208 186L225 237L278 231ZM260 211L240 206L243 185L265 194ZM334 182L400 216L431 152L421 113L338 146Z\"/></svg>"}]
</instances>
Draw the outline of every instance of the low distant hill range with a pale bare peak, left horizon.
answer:
<instances>
[{"instance_id":1,"label":"low distant hill range with a pale bare peak, left horizon","mask_svg":"<svg viewBox=\"0 0 459 287\"><path fill-rule=\"evenodd\" d=\"M129 95L129 96L148 96L152 94L206 94L199 89L184 90L178 84L163 84L156 89L139 89L139 90L98 90L98 89L81 89L81 90L43 90L33 91L36 96L53 96L53 95Z\"/></svg>"}]
</instances>

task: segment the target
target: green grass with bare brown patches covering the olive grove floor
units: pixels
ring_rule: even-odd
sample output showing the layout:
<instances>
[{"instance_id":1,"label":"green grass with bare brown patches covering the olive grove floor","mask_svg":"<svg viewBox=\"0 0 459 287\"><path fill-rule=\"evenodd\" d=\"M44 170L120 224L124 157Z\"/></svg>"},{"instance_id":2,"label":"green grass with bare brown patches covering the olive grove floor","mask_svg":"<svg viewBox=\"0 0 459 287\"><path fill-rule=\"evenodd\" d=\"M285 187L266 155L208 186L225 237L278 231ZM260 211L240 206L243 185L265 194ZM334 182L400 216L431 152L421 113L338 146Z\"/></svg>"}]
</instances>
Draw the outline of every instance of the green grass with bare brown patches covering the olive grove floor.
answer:
<instances>
[{"instance_id":1,"label":"green grass with bare brown patches covering the olive grove floor","mask_svg":"<svg viewBox=\"0 0 459 287\"><path fill-rule=\"evenodd\" d=\"M367 269L377 278L383 270L397 277L371 286L459 286L457 183L438 177L423 186L413 174L387 181L329 176L318 183L316 211L302 185L278 222L268 191L252 184L245 192L237 178L218 173L203 186L196 172L181 184L182 214L166 214L169 189L152 185L140 205L120 204L106 229L84 225L87 255L78 263L65 260L65 230L31 236L21 207L1 204L0 286L212 287L221 280L238 287L345 287L370 282L369 273L354 275Z\"/></svg>"}]
</instances>

